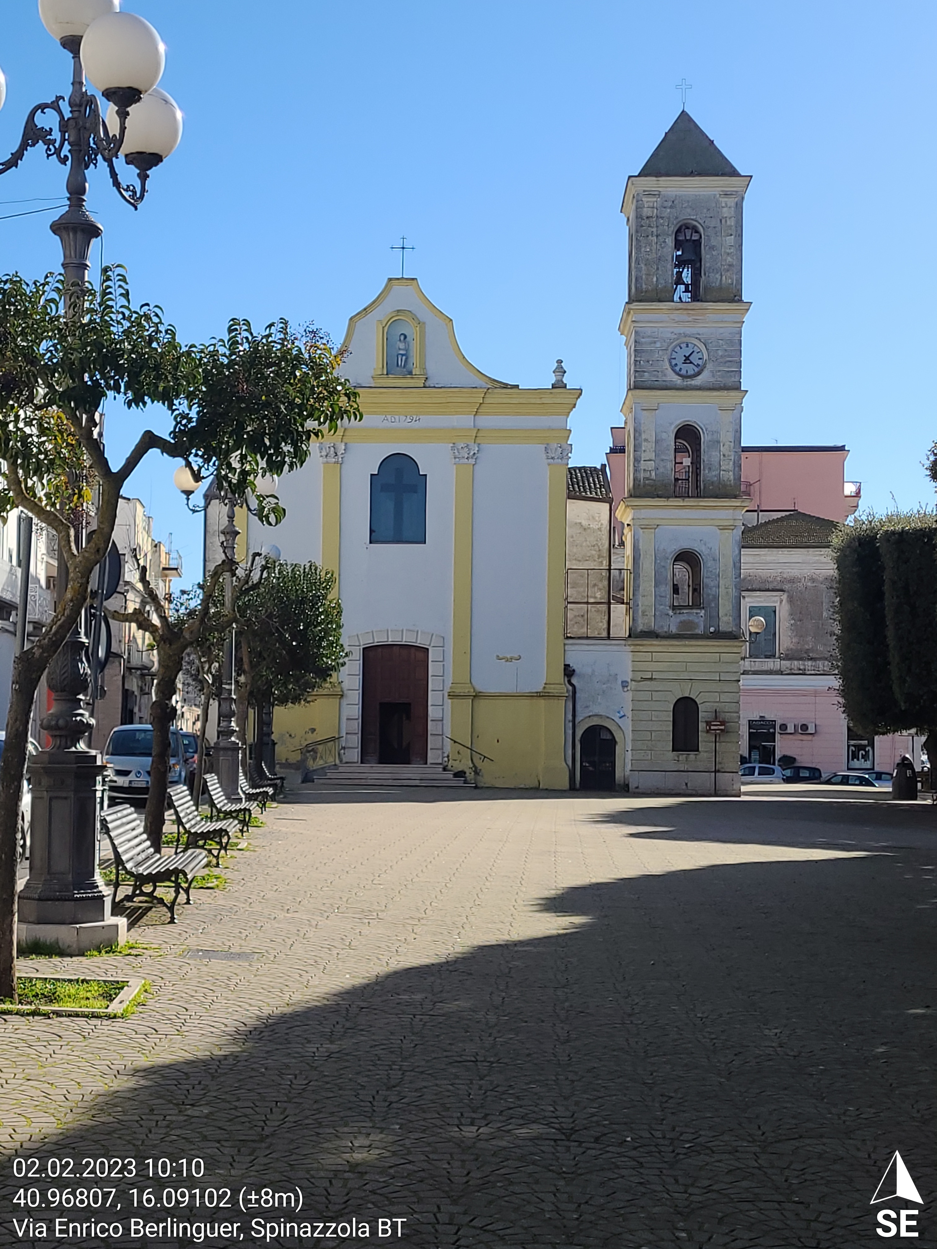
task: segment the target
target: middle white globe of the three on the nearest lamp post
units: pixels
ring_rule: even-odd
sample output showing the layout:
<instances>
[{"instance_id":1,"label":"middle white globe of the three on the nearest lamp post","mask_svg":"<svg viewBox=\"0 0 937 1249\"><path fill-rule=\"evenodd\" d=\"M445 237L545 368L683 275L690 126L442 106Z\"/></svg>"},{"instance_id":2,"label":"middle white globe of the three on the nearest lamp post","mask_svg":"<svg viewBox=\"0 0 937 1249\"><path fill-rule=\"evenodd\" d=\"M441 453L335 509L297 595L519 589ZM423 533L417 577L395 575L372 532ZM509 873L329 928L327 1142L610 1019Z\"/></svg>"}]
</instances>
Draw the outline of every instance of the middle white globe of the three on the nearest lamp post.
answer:
<instances>
[{"instance_id":1,"label":"middle white globe of the three on the nearest lamp post","mask_svg":"<svg viewBox=\"0 0 937 1249\"><path fill-rule=\"evenodd\" d=\"M166 49L135 12L105 12L81 40L81 64L105 100L129 109L152 91L166 66Z\"/></svg>"}]
</instances>

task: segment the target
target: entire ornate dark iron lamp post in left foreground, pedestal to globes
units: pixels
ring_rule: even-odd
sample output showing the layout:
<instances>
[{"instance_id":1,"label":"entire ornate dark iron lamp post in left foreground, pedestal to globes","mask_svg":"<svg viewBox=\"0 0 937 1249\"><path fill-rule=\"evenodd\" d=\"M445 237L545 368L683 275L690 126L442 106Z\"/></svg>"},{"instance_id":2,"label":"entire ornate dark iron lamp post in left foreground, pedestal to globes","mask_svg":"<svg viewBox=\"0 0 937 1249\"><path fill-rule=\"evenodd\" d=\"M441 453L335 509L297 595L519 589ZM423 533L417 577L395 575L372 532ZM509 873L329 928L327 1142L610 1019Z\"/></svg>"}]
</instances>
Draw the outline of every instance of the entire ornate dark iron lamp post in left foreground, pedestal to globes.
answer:
<instances>
[{"instance_id":1,"label":"entire ornate dark iron lamp post in left foreground, pedestal to globes","mask_svg":"<svg viewBox=\"0 0 937 1249\"><path fill-rule=\"evenodd\" d=\"M120 197L136 209L146 195L150 171L175 150L182 134L177 106L156 90L165 64L160 36L142 17L120 12L119 6L120 0L39 0L42 24L71 56L71 92L66 107L65 96L56 95L30 109L19 147L0 162L0 175L7 174L30 149L42 147L67 169L69 206L50 229L62 249L65 309L75 317L82 313L91 246L102 234L86 206L89 170L102 162ZM107 100L106 115L86 79ZM4 97L0 74L0 106ZM119 156L136 170L136 185L121 181ZM52 744L30 766L30 876L19 901L21 938L55 942L71 953L122 940L126 934L126 921L110 914L110 897L97 873L104 769L100 754L81 741L94 728L90 677L80 621L46 673L52 707L41 727Z\"/></svg>"}]
</instances>

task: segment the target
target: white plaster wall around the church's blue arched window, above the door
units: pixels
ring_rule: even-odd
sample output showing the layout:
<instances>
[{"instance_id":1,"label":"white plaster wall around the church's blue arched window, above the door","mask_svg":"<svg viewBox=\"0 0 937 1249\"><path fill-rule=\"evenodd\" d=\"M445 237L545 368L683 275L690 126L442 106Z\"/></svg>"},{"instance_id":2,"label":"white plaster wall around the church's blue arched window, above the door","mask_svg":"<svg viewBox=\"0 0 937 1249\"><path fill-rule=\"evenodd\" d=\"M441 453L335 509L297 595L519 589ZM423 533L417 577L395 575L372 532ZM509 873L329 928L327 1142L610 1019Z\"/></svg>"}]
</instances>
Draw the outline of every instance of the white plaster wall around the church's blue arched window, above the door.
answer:
<instances>
[{"instance_id":1,"label":"white plaster wall around the church's blue arched window, above the door","mask_svg":"<svg viewBox=\"0 0 937 1249\"><path fill-rule=\"evenodd\" d=\"M426 473L425 543L370 542L371 473L395 453L411 456ZM449 443L347 445L339 577L346 636L395 628L451 637L454 483Z\"/></svg>"}]
</instances>

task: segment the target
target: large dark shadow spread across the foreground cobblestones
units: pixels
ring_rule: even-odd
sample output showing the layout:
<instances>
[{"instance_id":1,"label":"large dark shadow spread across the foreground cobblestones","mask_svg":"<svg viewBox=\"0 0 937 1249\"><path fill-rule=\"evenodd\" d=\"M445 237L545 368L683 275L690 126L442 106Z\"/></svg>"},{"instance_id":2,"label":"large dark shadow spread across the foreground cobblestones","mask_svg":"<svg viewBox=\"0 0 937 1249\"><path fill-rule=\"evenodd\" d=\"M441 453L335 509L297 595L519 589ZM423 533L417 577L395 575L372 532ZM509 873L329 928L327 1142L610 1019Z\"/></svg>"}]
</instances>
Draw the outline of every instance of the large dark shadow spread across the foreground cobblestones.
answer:
<instances>
[{"instance_id":1,"label":"large dark shadow spread across the foreground cobblestones","mask_svg":"<svg viewBox=\"0 0 937 1249\"><path fill-rule=\"evenodd\" d=\"M666 809L640 817L662 826L642 836L677 836ZM937 1190L927 863L568 889L542 907L578 928L394 972L140 1070L41 1152L197 1155L204 1184L299 1184L309 1218L406 1218L414 1249L871 1245L896 1149L925 1200Z\"/></svg>"}]
</instances>

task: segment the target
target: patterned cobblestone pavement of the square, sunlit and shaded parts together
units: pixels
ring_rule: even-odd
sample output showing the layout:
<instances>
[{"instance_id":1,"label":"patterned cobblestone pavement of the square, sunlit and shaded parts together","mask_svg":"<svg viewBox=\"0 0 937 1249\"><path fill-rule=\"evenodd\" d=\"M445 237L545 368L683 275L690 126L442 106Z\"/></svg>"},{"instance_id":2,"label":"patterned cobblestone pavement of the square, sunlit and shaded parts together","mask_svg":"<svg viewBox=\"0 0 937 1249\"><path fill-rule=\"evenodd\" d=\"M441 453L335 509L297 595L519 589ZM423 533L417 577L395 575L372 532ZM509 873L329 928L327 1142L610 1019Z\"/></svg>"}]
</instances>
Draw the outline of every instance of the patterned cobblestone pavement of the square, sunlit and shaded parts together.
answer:
<instances>
[{"instance_id":1,"label":"patterned cobblestone pavement of the square, sunlit and shaded parts together","mask_svg":"<svg viewBox=\"0 0 937 1249\"><path fill-rule=\"evenodd\" d=\"M414 1249L858 1249L900 1149L933 1245L936 842L923 804L304 791L155 950L24 960L155 992L0 1018L2 1145L195 1155Z\"/></svg>"}]
</instances>

